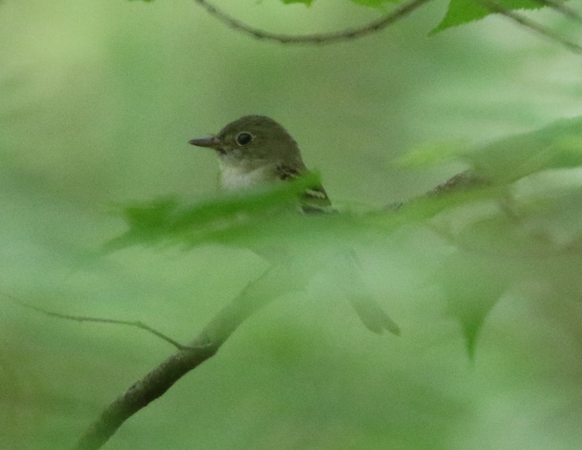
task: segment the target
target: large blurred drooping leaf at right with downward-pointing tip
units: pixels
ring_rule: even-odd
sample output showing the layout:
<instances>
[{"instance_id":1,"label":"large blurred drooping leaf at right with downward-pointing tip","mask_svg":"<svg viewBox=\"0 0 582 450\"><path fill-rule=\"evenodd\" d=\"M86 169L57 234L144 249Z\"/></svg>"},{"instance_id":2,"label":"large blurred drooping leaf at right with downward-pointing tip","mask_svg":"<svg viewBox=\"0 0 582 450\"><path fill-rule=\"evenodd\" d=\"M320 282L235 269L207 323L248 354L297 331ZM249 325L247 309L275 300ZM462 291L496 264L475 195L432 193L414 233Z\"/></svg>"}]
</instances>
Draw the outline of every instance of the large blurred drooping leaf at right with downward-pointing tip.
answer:
<instances>
[{"instance_id":1,"label":"large blurred drooping leaf at right with downward-pointing tip","mask_svg":"<svg viewBox=\"0 0 582 450\"><path fill-rule=\"evenodd\" d=\"M562 170L561 172L564 172ZM582 301L582 173L533 176L499 197L465 197L431 219L456 249L434 271L472 355L489 311L534 283L539 296ZM560 294L558 294L560 293Z\"/></svg>"}]
</instances>

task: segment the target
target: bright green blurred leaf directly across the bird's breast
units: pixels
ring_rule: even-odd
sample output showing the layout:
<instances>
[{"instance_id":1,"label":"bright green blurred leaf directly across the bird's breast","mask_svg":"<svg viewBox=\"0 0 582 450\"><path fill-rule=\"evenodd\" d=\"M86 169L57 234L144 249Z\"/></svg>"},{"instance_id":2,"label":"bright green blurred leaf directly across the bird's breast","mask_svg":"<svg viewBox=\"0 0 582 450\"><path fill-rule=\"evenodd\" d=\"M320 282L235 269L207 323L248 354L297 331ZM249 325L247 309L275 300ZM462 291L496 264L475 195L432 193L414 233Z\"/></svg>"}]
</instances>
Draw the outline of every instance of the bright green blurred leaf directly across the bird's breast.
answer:
<instances>
[{"instance_id":1,"label":"bright green blurred leaf directly across the bird's breast","mask_svg":"<svg viewBox=\"0 0 582 450\"><path fill-rule=\"evenodd\" d=\"M105 245L112 251L129 245L173 245L189 247L205 241L252 241L255 231L267 235L266 224L288 220L297 214L297 198L306 188L319 184L317 174L300 177L274 187L242 190L229 195L202 199L196 203L177 197L118 207L129 230Z\"/></svg>"}]
</instances>

